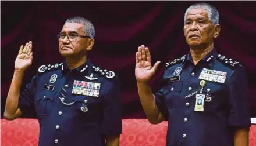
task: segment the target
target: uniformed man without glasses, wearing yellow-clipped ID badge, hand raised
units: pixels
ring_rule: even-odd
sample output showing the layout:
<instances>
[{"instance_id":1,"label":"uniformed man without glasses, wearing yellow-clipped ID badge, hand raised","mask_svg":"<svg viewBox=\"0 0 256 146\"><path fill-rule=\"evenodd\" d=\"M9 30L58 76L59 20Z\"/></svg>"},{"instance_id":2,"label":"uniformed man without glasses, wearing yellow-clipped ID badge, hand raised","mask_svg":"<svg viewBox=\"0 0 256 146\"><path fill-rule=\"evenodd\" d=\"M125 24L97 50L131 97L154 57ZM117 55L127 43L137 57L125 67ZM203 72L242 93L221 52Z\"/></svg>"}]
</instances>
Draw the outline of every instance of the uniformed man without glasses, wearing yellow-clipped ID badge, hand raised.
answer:
<instances>
[{"instance_id":1,"label":"uniformed man without glasses, wearing yellow-clipped ID badge, hand raised","mask_svg":"<svg viewBox=\"0 0 256 146\"><path fill-rule=\"evenodd\" d=\"M147 82L160 61L151 65L148 48L138 47L135 75L148 121L168 119L168 146L246 146L251 126L246 72L239 61L216 52L218 10L198 3L184 19L190 52L166 63L155 94Z\"/></svg>"}]
</instances>

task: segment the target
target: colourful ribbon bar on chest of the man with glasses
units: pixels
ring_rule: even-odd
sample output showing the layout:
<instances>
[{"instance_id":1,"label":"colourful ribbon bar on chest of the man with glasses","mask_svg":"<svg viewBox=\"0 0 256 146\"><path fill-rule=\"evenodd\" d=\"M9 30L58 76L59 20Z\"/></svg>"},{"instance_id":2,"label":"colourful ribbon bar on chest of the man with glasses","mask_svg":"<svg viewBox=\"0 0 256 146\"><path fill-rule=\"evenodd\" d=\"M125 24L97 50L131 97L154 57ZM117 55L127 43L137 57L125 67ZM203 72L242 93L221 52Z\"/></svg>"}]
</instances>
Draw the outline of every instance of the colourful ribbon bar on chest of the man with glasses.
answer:
<instances>
[{"instance_id":1,"label":"colourful ribbon bar on chest of the man with glasses","mask_svg":"<svg viewBox=\"0 0 256 146\"><path fill-rule=\"evenodd\" d=\"M100 83L74 80L72 93L85 96L99 97Z\"/></svg>"}]
</instances>

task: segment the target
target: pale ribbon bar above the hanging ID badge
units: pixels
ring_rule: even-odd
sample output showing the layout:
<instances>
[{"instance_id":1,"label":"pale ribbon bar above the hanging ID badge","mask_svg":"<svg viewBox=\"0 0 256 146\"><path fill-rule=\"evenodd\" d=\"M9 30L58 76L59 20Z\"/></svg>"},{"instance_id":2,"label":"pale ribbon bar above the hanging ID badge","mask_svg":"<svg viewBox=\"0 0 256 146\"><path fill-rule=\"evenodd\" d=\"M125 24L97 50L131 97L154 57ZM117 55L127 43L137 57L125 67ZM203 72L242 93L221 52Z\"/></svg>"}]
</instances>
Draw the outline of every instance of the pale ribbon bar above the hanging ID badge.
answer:
<instances>
[{"instance_id":1,"label":"pale ribbon bar above the hanging ID badge","mask_svg":"<svg viewBox=\"0 0 256 146\"><path fill-rule=\"evenodd\" d=\"M207 81L225 83L227 76L227 72L209 70L207 68L203 68L198 79L204 79Z\"/></svg>"}]
</instances>

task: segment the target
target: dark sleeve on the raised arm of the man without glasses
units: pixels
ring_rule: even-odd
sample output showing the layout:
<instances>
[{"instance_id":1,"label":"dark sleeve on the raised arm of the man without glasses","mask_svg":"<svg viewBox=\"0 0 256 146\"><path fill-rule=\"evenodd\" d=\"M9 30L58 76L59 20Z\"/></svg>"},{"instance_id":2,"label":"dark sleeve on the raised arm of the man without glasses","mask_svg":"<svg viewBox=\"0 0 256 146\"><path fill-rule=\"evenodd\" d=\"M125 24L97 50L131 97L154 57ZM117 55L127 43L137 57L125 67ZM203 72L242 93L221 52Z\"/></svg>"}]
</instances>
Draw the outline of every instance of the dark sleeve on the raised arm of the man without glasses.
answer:
<instances>
[{"instance_id":1,"label":"dark sleeve on the raised arm of the man without glasses","mask_svg":"<svg viewBox=\"0 0 256 146\"><path fill-rule=\"evenodd\" d=\"M167 120L169 112L165 104L164 92L165 92L165 89L161 87L161 89L159 89L155 93L155 104L157 105L157 108L159 109L159 111L161 112L165 120Z\"/></svg>"}]
</instances>

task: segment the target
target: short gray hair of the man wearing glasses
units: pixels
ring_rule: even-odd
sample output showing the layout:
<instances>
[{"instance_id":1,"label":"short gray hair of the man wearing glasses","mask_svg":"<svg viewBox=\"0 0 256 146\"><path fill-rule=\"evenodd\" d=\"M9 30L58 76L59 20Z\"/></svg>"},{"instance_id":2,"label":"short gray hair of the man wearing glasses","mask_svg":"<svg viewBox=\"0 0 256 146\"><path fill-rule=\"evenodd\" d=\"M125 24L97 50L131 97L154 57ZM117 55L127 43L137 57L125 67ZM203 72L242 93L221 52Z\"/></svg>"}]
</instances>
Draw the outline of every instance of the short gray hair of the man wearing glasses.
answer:
<instances>
[{"instance_id":1,"label":"short gray hair of the man wearing glasses","mask_svg":"<svg viewBox=\"0 0 256 146\"><path fill-rule=\"evenodd\" d=\"M91 21L89 21L88 19L85 19L83 17L71 17L70 19L67 19L65 23L81 23L83 24L84 27L84 33L86 33L86 35L90 36L91 38L94 38L95 36L95 29L93 26L93 23L91 23Z\"/></svg>"}]
</instances>

